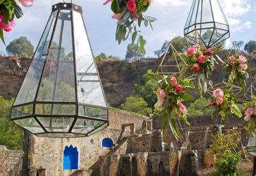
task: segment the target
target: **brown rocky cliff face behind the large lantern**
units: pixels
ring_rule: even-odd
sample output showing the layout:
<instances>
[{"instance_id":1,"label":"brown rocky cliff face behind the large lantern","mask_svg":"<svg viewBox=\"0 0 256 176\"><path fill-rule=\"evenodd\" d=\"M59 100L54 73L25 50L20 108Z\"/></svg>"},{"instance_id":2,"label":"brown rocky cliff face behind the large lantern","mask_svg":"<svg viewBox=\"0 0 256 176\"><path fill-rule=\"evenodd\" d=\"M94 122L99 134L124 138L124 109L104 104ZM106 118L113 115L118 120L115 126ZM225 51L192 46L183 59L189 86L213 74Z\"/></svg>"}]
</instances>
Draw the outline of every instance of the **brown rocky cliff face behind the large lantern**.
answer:
<instances>
[{"instance_id":1,"label":"brown rocky cliff face behind the large lantern","mask_svg":"<svg viewBox=\"0 0 256 176\"><path fill-rule=\"evenodd\" d=\"M19 92L31 58L0 58L0 95L5 99L15 98ZM156 70L159 63L127 61L102 61L98 64L100 79L111 106L117 107L126 97L134 95L134 84L143 82L148 69Z\"/></svg>"}]
</instances>

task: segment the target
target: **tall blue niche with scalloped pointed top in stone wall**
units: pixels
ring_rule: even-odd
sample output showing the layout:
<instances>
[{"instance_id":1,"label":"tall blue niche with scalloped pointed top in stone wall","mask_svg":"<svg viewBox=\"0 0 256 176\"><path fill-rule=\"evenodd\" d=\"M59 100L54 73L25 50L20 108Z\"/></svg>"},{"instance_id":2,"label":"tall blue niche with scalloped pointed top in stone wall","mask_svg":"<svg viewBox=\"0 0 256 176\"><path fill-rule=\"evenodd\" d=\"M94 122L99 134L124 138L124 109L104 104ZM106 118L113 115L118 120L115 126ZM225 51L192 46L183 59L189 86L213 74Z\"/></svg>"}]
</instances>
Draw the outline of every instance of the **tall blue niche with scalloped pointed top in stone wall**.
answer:
<instances>
[{"instance_id":1,"label":"tall blue niche with scalloped pointed top in stone wall","mask_svg":"<svg viewBox=\"0 0 256 176\"><path fill-rule=\"evenodd\" d=\"M78 151L77 147L65 147L63 151L63 169L78 169Z\"/></svg>"}]
</instances>

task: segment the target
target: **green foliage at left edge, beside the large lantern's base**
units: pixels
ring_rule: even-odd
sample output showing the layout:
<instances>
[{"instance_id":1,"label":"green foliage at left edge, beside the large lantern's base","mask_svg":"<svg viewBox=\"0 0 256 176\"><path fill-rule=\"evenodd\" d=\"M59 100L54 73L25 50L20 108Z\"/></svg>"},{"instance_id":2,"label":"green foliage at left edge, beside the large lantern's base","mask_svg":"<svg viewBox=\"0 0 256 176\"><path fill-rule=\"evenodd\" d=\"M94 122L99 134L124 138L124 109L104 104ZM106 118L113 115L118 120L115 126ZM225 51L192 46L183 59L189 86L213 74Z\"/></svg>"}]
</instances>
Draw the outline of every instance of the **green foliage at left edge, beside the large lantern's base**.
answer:
<instances>
[{"instance_id":1,"label":"green foliage at left edge, beside the large lantern's base","mask_svg":"<svg viewBox=\"0 0 256 176\"><path fill-rule=\"evenodd\" d=\"M13 100L0 97L0 145L8 149L22 149L24 131L10 120Z\"/></svg>"}]
</instances>

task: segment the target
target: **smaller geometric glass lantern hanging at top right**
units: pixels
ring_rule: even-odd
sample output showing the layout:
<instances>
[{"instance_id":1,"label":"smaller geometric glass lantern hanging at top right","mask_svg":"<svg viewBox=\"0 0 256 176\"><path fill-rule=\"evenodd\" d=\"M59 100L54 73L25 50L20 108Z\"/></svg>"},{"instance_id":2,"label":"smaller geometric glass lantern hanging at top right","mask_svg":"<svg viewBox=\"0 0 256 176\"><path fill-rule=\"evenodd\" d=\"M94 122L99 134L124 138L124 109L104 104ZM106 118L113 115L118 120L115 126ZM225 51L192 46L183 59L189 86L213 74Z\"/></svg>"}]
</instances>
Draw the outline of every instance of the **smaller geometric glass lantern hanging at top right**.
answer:
<instances>
[{"instance_id":1,"label":"smaller geometric glass lantern hanging at top right","mask_svg":"<svg viewBox=\"0 0 256 176\"><path fill-rule=\"evenodd\" d=\"M218 0L194 0L184 28L191 44L209 48L229 38L229 26Z\"/></svg>"}]
</instances>

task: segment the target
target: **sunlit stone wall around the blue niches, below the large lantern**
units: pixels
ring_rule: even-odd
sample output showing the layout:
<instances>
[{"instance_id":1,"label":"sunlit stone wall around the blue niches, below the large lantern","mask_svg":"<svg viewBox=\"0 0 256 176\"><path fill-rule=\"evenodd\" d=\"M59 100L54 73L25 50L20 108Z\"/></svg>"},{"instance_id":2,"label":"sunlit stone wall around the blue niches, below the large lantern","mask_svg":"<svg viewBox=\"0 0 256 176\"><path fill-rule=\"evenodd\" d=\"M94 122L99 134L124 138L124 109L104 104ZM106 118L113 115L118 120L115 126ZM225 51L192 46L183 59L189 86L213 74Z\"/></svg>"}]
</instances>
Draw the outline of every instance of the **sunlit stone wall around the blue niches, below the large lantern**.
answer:
<instances>
[{"instance_id":1,"label":"sunlit stone wall around the blue niches, below the large lantern","mask_svg":"<svg viewBox=\"0 0 256 176\"><path fill-rule=\"evenodd\" d=\"M93 165L97 165L99 156L111 154L109 148L102 147L104 138L111 138L116 144L116 152L126 153L125 140L135 129L140 129L145 116L132 115L125 111L109 110L109 127L86 138L39 138L31 134L29 146L30 175L36 175L36 171L43 170L45 175L73 175L89 173ZM125 125L127 124L127 125ZM127 126L127 127L125 127ZM131 128L131 127L134 127ZM77 170L63 170L63 150L65 146L77 147ZM86 171L87 170L87 171ZM85 173L83 173L85 174Z\"/></svg>"}]
</instances>

